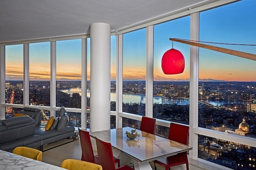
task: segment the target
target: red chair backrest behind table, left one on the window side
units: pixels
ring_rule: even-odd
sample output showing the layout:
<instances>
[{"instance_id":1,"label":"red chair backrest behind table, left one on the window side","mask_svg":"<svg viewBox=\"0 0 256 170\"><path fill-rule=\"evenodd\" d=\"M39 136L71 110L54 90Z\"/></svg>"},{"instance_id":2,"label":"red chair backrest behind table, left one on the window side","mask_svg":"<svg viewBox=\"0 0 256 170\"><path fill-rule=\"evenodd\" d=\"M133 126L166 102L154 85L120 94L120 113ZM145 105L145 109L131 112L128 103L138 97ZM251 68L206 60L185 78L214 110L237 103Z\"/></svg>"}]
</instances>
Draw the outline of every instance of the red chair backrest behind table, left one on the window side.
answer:
<instances>
[{"instance_id":1,"label":"red chair backrest behind table, left one on the window side","mask_svg":"<svg viewBox=\"0 0 256 170\"><path fill-rule=\"evenodd\" d=\"M140 124L140 130L155 134L155 128L156 128L156 119L142 116L141 124Z\"/></svg>"}]
</instances>

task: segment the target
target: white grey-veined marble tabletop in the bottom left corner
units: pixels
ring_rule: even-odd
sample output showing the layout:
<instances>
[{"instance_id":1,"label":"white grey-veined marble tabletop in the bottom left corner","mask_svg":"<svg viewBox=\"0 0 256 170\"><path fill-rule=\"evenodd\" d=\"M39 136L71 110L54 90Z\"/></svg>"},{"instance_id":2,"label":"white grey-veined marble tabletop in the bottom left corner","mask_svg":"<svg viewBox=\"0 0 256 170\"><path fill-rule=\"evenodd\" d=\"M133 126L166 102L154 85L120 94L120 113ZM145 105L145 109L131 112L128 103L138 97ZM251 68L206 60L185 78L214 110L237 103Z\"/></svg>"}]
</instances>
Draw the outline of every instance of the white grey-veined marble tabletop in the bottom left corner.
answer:
<instances>
[{"instance_id":1,"label":"white grey-veined marble tabletop in the bottom left corner","mask_svg":"<svg viewBox=\"0 0 256 170\"><path fill-rule=\"evenodd\" d=\"M66 170L38 160L0 150L0 170Z\"/></svg>"}]
</instances>

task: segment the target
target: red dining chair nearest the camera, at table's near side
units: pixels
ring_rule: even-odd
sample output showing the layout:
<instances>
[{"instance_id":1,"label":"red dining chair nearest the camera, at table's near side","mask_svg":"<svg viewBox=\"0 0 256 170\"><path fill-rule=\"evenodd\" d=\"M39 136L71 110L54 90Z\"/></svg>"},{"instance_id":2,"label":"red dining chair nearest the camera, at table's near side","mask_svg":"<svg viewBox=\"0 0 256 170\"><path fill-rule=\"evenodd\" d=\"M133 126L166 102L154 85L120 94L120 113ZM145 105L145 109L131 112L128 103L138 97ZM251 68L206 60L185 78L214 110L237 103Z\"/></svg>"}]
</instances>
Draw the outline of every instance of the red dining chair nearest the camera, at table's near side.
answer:
<instances>
[{"instance_id":1,"label":"red dining chair nearest the camera, at table's near side","mask_svg":"<svg viewBox=\"0 0 256 170\"><path fill-rule=\"evenodd\" d=\"M128 165L118 168L115 167L111 143L104 142L96 137L96 145L99 156L99 164L102 166L103 170L134 170Z\"/></svg>"}]
</instances>

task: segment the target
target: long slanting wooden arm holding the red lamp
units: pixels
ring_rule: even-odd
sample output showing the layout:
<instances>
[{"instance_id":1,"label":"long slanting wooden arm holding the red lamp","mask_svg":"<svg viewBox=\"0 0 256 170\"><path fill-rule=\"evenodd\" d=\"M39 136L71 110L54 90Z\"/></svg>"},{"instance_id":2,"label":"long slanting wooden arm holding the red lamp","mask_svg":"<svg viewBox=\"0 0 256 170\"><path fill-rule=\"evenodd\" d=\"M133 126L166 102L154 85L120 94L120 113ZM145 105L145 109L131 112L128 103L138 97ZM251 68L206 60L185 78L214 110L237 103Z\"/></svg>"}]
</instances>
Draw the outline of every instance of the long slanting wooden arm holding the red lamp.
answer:
<instances>
[{"instance_id":1,"label":"long slanting wooden arm holding the red lamp","mask_svg":"<svg viewBox=\"0 0 256 170\"><path fill-rule=\"evenodd\" d=\"M176 41L176 42L179 42L179 43L188 44L188 45L193 45L193 46L196 46L196 47L202 47L202 48L205 48L205 49L210 49L210 50L213 50L213 51L218 51L218 52L221 52L221 53L235 55L235 56L238 56L238 57L243 57L243 58L246 58L246 59L250 59L250 60L256 61L256 55L255 54L251 54L251 53L244 53L244 52L241 52L241 51L225 49L225 48L222 48L222 47L216 47L216 46L212 46L212 45L200 44L200 43L195 43L195 42L181 40L181 39L175 39L175 38L170 38L170 40L171 41Z\"/></svg>"}]
</instances>

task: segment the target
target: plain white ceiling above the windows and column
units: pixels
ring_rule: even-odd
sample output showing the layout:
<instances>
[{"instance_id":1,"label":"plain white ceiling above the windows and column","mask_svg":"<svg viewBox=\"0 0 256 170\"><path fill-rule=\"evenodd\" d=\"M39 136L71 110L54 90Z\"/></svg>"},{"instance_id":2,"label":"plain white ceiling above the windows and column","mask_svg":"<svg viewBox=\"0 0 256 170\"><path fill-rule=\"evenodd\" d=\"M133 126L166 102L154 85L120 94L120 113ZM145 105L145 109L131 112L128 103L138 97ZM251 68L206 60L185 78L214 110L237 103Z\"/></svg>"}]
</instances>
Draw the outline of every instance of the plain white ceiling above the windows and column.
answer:
<instances>
[{"instance_id":1,"label":"plain white ceiling above the windows and column","mask_svg":"<svg viewBox=\"0 0 256 170\"><path fill-rule=\"evenodd\" d=\"M0 43L90 33L138 25L217 0L0 0Z\"/></svg>"}]
</instances>

